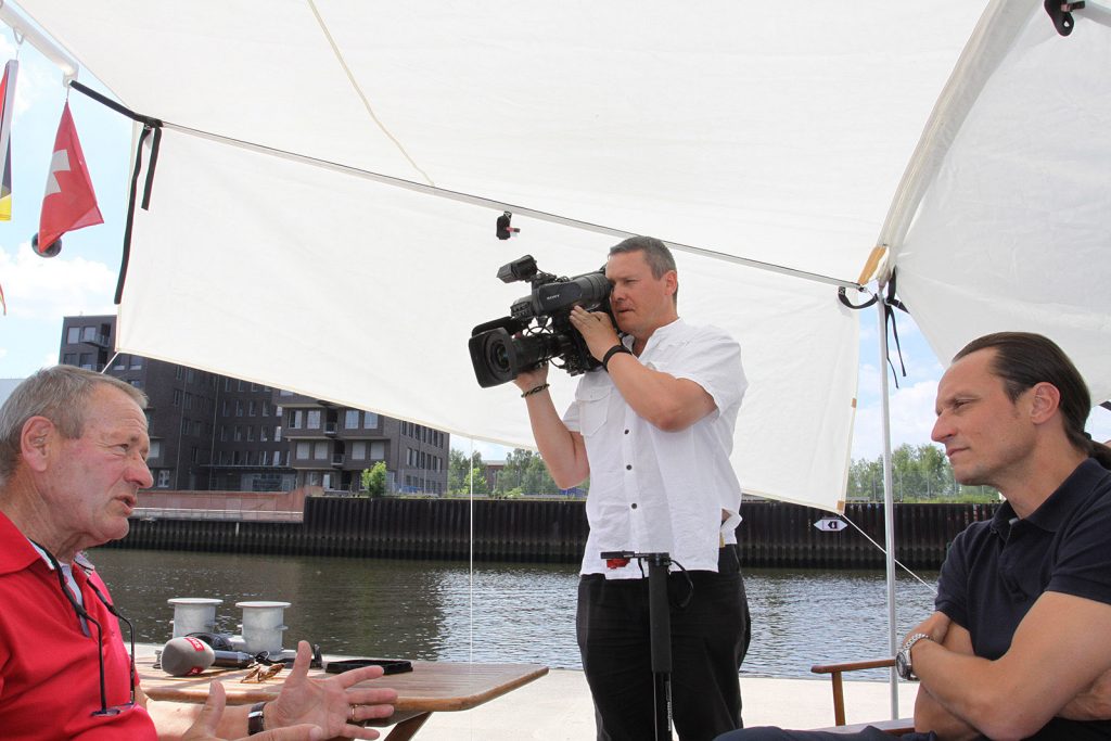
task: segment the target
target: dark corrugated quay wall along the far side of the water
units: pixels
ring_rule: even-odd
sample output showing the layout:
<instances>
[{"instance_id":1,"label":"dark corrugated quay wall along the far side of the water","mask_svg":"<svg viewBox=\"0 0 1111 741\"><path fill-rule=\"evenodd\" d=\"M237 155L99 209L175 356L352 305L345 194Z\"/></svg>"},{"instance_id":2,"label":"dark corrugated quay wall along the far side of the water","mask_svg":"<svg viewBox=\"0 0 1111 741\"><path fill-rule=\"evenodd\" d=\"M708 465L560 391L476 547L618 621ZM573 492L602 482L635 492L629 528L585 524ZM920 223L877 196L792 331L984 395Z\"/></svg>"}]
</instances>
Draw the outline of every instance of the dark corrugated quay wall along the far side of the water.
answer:
<instances>
[{"instance_id":1,"label":"dark corrugated quay wall along the far side of the water","mask_svg":"<svg viewBox=\"0 0 1111 741\"><path fill-rule=\"evenodd\" d=\"M895 558L940 568L953 537L995 504L895 504ZM748 567L882 569L883 553L855 528L822 531L821 510L745 502L738 528ZM884 543L883 507L850 504L845 518ZM473 534L472 534L473 530ZM309 497L303 522L132 518L116 548L306 555L575 563L587 540L582 501L341 499Z\"/></svg>"}]
</instances>

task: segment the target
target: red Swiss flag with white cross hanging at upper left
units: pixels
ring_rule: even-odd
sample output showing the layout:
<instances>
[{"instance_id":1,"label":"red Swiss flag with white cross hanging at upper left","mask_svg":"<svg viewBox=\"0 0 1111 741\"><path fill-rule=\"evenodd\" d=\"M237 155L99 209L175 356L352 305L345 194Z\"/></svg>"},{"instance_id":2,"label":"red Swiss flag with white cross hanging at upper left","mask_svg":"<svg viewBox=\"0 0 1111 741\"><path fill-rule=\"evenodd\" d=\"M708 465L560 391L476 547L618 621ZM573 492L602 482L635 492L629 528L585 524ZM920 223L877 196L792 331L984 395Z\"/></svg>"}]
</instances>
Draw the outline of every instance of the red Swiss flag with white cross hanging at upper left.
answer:
<instances>
[{"instance_id":1,"label":"red Swiss flag with white cross hanging at upper left","mask_svg":"<svg viewBox=\"0 0 1111 741\"><path fill-rule=\"evenodd\" d=\"M92 191L92 179L67 101L58 124L58 136L54 137L50 174L47 176L47 194L42 199L42 216L39 218L38 250L46 253L67 231L98 223L104 223L104 219L97 208L97 194Z\"/></svg>"}]
</instances>

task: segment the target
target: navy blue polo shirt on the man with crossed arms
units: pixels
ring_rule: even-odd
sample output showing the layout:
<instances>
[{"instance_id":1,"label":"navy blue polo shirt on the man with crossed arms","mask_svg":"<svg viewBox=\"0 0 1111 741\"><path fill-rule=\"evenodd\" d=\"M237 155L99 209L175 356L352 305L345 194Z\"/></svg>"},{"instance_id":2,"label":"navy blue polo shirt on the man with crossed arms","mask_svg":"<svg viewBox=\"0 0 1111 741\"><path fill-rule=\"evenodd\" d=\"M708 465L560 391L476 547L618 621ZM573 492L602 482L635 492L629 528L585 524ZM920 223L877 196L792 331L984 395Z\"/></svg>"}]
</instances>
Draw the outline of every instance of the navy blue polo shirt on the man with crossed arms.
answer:
<instances>
[{"instance_id":1,"label":"navy blue polo shirt on the man with crossed arms","mask_svg":"<svg viewBox=\"0 0 1111 741\"><path fill-rule=\"evenodd\" d=\"M998 659L1042 592L1111 604L1111 471L1089 458L1030 517L1009 502L955 539L935 607L968 629L972 650ZM1037 739L1111 739L1111 721L1053 719Z\"/></svg>"}]
</instances>

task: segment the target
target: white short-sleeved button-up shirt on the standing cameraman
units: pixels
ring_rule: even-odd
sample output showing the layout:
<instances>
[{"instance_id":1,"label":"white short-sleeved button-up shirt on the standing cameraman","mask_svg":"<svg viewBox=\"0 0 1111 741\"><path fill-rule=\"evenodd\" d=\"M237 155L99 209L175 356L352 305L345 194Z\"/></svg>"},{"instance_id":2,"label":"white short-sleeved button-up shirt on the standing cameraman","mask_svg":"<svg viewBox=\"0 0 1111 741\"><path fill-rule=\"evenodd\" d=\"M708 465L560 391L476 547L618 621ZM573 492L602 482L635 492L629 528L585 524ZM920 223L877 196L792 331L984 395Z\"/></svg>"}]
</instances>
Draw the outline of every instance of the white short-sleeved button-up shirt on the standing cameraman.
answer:
<instances>
[{"instance_id":1,"label":"white short-sleeved button-up shirt on the standing cameraman","mask_svg":"<svg viewBox=\"0 0 1111 741\"><path fill-rule=\"evenodd\" d=\"M652 333L640 362L694 381L717 409L685 430L664 432L625 403L605 371L582 377L563 415L568 429L582 434L590 462L581 573L641 578L635 560L608 569L603 551L668 552L689 571L717 571L718 550L737 542L741 521L741 485L729 462L748 387L741 348L714 327L677 319Z\"/></svg>"}]
</instances>

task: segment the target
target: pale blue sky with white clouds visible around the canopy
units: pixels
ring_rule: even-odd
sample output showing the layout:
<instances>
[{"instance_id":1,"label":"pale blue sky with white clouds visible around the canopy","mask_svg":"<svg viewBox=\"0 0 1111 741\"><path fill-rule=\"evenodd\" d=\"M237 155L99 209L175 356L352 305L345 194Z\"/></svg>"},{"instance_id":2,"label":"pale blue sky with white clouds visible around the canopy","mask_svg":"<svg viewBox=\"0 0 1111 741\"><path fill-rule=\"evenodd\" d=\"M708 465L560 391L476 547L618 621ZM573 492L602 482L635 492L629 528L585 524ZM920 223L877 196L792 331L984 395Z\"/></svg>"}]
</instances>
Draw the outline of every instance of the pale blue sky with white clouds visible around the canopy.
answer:
<instances>
[{"instance_id":1,"label":"pale blue sky with white clouds visible around the canopy","mask_svg":"<svg viewBox=\"0 0 1111 741\"><path fill-rule=\"evenodd\" d=\"M6 27L0 30L0 53L4 60L16 54L14 39ZM78 79L103 90L87 73ZM12 132L12 220L0 222L0 286L8 301L8 316L0 317L0 378L22 378L57 362L62 317L114 313L112 293L127 213L131 123L76 91L69 94L70 109L104 223L67 234L56 258L43 259L31 250L66 97L61 72L23 44ZM860 400L852 457L875 458L881 452L878 328L874 309L860 313ZM891 384L893 447L929 442L933 398L943 371L905 314L899 317L899 337L908 378L900 378L899 389ZM1093 412L1089 430L1097 439L1111 438L1111 412ZM452 444L464 451L470 448L468 440L458 437ZM476 449L488 460L504 455L500 445L476 443Z\"/></svg>"}]
</instances>

